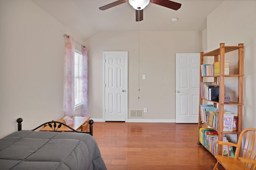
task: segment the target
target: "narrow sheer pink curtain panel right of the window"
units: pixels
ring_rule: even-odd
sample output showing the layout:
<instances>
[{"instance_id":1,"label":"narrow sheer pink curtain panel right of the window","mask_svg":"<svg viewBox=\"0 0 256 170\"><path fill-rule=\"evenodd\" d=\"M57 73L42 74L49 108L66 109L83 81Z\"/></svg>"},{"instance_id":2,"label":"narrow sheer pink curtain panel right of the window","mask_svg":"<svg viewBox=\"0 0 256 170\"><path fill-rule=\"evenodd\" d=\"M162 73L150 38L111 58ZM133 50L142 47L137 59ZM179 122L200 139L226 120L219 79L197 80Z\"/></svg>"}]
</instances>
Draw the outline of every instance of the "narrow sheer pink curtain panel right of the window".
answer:
<instances>
[{"instance_id":1,"label":"narrow sheer pink curtain panel right of the window","mask_svg":"<svg viewBox=\"0 0 256 170\"><path fill-rule=\"evenodd\" d=\"M88 48L86 46L82 46L82 54L82 115L88 116Z\"/></svg>"}]
</instances>

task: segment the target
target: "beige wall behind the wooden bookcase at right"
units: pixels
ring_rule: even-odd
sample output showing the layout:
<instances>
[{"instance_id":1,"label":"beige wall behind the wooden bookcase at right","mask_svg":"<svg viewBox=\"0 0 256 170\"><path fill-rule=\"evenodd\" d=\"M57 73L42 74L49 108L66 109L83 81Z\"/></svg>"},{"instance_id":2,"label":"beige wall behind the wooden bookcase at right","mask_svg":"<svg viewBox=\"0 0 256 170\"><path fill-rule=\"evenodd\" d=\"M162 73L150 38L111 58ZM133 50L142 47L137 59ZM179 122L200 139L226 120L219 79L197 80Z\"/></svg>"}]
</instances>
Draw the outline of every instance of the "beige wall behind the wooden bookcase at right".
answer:
<instances>
[{"instance_id":1,"label":"beige wall behind the wooden bookcase at right","mask_svg":"<svg viewBox=\"0 0 256 170\"><path fill-rule=\"evenodd\" d=\"M207 17L208 51L218 48L220 43L225 43L225 45L244 43L243 129L246 127L256 128L255 16L256 1L226 0ZM232 55L229 57L232 57ZM232 60L231 58L229 59Z\"/></svg>"}]
</instances>

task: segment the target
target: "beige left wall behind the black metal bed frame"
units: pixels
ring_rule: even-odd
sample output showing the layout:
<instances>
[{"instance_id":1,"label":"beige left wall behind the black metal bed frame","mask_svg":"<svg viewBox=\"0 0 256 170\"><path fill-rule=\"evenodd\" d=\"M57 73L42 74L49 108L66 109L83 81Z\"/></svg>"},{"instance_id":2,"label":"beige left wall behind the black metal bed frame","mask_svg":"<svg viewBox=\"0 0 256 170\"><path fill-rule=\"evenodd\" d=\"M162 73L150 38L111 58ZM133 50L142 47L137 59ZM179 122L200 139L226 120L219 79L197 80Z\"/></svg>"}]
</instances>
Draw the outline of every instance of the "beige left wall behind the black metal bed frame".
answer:
<instances>
[{"instance_id":1,"label":"beige left wall behind the black metal bed frame","mask_svg":"<svg viewBox=\"0 0 256 170\"><path fill-rule=\"evenodd\" d=\"M0 138L17 131L19 117L32 129L64 115L65 33L30 0L1 0Z\"/></svg>"}]
</instances>

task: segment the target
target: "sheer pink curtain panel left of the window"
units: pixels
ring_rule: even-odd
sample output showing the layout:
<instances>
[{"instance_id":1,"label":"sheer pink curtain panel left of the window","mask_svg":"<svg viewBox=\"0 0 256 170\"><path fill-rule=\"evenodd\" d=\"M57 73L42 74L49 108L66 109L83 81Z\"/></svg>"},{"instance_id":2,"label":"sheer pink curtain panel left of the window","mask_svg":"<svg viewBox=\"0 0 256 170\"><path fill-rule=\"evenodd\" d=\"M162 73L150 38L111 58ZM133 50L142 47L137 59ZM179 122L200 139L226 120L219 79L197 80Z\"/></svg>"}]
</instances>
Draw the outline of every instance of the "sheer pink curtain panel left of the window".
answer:
<instances>
[{"instance_id":1,"label":"sheer pink curtain panel left of the window","mask_svg":"<svg viewBox=\"0 0 256 170\"><path fill-rule=\"evenodd\" d=\"M64 115L74 116L74 38L65 35Z\"/></svg>"}]
</instances>

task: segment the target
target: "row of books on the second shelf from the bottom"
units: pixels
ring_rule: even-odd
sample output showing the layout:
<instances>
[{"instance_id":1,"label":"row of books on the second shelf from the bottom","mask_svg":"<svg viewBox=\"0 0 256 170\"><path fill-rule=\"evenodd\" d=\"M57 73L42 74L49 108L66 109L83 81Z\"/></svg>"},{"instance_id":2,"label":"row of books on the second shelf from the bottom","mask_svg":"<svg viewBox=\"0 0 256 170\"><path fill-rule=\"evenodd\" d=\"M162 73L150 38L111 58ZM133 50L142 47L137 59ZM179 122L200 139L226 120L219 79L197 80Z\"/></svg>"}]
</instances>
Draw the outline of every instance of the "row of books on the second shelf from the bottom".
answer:
<instances>
[{"instance_id":1,"label":"row of books on the second shelf from the bottom","mask_svg":"<svg viewBox=\"0 0 256 170\"><path fill-rule=\"evenodd\" d=\"M219 111L213 105L200 105L201 121L208 124L210 127L218 130L219 127ZM231 111L223 112L223 131L237 130L238 115Z\"/></svg>"}]
</instances>

